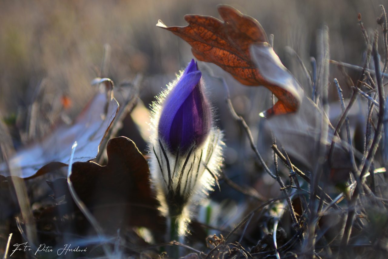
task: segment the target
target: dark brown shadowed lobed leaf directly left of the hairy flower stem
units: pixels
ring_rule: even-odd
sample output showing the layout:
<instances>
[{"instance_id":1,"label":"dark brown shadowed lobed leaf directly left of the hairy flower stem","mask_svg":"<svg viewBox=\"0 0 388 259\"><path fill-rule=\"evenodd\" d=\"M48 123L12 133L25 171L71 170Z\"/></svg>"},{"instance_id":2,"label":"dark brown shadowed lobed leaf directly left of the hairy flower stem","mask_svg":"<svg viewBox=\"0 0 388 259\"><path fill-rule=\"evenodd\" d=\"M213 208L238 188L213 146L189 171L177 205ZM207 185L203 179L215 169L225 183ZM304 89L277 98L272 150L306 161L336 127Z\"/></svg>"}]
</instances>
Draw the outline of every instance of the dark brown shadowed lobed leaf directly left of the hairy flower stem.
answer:
<instances>
[{"instance_id":1,"label":"dark brown shadowed lobed leaf directly left of the hairy flower stem","mask_svg":"<svg viewBox=\"0 0 388 259\"><path fill-rule=\"evenodd\" d=\"M110 139L107 156L106 166L94 162L73 163L70 179L82 202L102 226L163 229L158 202L150 186L148 164L135 143L126 137ZM66 195L66 200L73 202L66 178L48 183L55 198Z\"/></svg>"}]
</instances>

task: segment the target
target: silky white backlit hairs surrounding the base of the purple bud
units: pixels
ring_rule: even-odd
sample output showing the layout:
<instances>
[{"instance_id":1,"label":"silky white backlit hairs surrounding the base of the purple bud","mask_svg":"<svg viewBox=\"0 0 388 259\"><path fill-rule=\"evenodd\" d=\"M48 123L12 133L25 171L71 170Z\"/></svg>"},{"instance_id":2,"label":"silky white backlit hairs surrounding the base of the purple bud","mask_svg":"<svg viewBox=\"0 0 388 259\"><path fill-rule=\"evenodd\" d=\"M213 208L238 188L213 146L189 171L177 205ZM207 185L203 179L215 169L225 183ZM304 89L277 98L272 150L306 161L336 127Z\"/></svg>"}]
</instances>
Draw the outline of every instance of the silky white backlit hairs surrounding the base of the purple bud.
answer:
<instances>
[{"instance_id":1,"label":"silky white backlit hairs surrounding the base of the purple bud","mask_svg":"<svg viewBox=\"0 0 388 259\"><path fill-rule=\"evenodd\" d=\"M214 190L213 187L218 185L225 144L222 141L223 133L213 123L205 141L199 146L193 145L185 154L172 154L163 139L159 138L158 123L163 103L180 76L167 85L151 104L149 166L152 184L160 202L159 210L163 216L178 217L178 234L184 236L198 203L206 199L209 192ZM213 112L211 114L214 116ZM182 203L178 205L181 206L180 215L172 215L169 208L178 203Z\"/></svg>"}]
</instances>

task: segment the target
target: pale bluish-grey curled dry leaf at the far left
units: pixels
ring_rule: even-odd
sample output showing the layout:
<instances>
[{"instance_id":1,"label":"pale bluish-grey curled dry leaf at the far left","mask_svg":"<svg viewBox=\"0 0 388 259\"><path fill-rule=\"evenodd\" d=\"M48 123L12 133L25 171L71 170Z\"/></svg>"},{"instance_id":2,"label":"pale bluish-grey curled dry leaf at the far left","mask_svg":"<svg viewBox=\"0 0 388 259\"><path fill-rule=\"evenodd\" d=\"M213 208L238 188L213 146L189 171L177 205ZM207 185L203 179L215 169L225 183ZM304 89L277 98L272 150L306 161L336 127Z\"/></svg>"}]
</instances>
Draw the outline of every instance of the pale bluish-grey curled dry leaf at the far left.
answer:
<instances>
[{"instance_id":1,"label":"pale bluish-grey curled dry leaf at the far left","mask_svg":"<svg viewBox=\"0 0 388 259\"><path fill-rule=\"evenodd\" d=\"M78 148L73 161L85 162L97 156L119 104L113 97L113 82L110 79L98 78L94 83L99 85L98 92L74 123L60 125L39 143L17 151L8 161L12 172L19 173L22 178L32 178L67 166L74 141L77 141ZM5 163L0 165L0 174L10 175Z\"/></svg>"}]
</instances>

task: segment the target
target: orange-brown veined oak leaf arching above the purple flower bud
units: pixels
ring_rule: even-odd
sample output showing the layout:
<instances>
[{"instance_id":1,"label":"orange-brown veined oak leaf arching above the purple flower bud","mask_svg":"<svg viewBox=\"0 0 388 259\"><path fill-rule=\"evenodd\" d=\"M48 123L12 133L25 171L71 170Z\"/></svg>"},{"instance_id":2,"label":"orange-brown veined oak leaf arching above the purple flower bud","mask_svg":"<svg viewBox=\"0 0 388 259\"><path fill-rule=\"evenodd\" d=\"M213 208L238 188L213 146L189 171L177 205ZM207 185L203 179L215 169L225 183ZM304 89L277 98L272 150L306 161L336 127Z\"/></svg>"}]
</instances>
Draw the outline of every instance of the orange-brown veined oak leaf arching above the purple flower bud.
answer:
<instances>
[{"instance_id":1,"label":"orange-brown veined oak leaf arching above the purple flower bud","mask_svg":"<svg viewBox=\"0 0 388 259\"><path fill-rule=\"evenodd\" d=\"M229 5L218 5L218 12L223 22L211 16L187 14L185 20L189 25L185 27L167 27L160 20L156 25L188 42L198 60L220 66L244 85L263 85L273 92L278 101L274 107L263 113L264 116L270 117L298 110L303 96L299 83L288 85L267 80L263 75L264 71L261 71L251 58L249 47L252 44L262 43L268 46L267 35L260 23ZM275 71L272 73L281 71L281 75L277 76L283 76L284 66L275 52L271 54L277 61L274 62L272 58L266 62L273 62L271 65Z\"/></svg>"}]
</instances>

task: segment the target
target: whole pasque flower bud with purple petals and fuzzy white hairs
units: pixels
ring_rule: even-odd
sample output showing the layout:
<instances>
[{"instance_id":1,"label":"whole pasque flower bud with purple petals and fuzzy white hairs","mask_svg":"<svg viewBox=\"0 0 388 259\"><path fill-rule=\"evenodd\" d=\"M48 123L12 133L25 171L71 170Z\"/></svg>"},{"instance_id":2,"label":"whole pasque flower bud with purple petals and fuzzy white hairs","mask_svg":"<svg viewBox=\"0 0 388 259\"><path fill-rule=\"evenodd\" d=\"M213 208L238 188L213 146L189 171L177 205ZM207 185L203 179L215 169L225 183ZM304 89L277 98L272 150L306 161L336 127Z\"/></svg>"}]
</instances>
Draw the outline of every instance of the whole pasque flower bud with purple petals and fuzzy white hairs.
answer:
<instances>
[{"instance_id":1,"label":"whole pasque flower bud with purple petals and fuzzy white hairs","mask_svg":"<svg viewBox=\"0 0 388 259\"><path fill-rule=\"evenodd\" d=\"M160 209L179 235L184 235L195 205L218 184L223 162L223 135L213 125L201 76L192 59L151 105L152 181Z\"/></svg>"}]
</instances>

